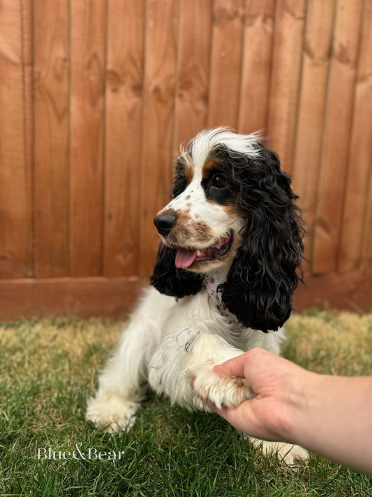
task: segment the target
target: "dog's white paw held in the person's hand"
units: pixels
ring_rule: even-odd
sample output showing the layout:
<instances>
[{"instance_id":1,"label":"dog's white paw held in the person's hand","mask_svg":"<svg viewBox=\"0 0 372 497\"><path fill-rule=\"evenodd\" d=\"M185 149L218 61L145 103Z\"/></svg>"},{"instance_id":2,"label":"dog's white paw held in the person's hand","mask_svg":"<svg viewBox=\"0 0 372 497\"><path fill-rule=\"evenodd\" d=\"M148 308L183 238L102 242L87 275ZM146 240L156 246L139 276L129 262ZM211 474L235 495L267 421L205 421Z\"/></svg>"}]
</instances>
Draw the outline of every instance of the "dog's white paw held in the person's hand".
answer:
<instances>
[{"instance_id":1,"label":"dog's white paw held in the person's hand","mask_svg":"<svg viewBox=\"0 0 372 497\"><path fill-rule=\"evenodd\" d=\"M242 402L255 396L245 378L237 376L220 376L211 368L200 370L195 375L193 387L197 398L198 408L211 411L209 404L217 408L225 405L227 408L236 408Z\"/></svg>"}]
</instances>

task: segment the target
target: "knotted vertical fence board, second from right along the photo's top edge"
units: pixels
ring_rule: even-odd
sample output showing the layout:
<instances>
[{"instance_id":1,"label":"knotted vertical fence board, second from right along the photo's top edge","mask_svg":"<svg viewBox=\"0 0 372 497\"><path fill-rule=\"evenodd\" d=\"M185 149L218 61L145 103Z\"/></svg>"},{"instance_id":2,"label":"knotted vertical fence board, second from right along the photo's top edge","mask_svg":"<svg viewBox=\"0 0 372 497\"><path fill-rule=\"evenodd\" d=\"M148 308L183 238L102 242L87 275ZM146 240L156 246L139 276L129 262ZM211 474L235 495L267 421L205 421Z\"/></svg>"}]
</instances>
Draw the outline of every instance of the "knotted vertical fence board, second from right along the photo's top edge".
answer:
<instances>
[{"instance_id":1,"label":"knotted vertical fence board, second from right along the photo's top edge","mask_svg":"<svg viewBox=\"0 0 372 497\"><path fill-rule=\"evenodd\" d=\"M335 271L354 101L362 0L339 0L329 75L313 271Z\"/></svg>"}]
</instances>

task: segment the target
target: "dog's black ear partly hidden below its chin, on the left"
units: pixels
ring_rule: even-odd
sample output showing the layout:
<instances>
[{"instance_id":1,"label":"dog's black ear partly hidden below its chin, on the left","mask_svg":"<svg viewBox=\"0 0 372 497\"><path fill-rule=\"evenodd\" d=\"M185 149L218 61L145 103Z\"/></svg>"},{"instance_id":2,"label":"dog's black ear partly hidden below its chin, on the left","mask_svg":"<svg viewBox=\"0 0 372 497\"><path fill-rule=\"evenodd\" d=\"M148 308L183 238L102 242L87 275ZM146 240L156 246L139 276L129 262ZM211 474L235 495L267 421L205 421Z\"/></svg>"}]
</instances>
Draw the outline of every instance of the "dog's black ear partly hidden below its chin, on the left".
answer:
<instances>
[{"instance_id":1,"label":"dog's black ear partly hidden below its chin, on the left","mask_svg":"<svg viewBox=\"0 0 372 497\"><path fill-rule=\"evenodd\" d=\"M161 294L177 298L195 295L202 288L204 276L177 268L174 264L176 252L176 249L170 249L161 243L150 283Z\"/></svg>"}]
</instances>

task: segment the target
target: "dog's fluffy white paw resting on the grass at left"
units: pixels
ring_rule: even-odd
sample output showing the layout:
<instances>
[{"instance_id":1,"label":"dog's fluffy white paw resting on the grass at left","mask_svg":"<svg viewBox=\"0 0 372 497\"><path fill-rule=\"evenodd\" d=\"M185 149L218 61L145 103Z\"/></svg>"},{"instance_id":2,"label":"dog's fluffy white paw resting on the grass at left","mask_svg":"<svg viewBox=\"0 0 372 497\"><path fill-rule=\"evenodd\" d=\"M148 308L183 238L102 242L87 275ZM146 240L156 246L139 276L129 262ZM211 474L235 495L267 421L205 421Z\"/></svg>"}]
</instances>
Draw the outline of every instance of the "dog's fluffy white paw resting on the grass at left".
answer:
<instances>
[{"instance_id":1,"label":"dog's fluffy white paw resting on the grass at left","mask_svg":"<svg viewBox=\"0 0 372 497\"><path fill-rule=\"evenodd\" d=\"M117 395L91 397L85 419L108 433L129 431L135 423L138 403L124 401Z\"/></svg>"}]
</instances>

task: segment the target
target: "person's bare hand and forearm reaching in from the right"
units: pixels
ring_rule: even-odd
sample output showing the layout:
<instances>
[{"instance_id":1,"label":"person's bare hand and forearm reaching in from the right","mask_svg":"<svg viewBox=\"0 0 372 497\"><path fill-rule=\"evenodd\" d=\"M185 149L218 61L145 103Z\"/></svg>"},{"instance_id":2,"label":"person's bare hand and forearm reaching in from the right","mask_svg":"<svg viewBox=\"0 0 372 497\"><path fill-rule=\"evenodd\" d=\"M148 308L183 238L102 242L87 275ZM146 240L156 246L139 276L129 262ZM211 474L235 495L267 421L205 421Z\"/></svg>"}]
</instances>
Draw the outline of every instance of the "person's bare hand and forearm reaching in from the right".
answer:
<instances>
[{"instance_id":1,"label":"person's bare hand and forearm reaching in from the right","mask_svg":"<svg viewBox=\"0 0 372 497\"><path fill-rule=\"evenodd\" d=\"M290 442L372 475L372 376L319 375L263 349L214 366L245 377L256 396L211 409L240 431Z\"/></svg>"}]
</instances>

